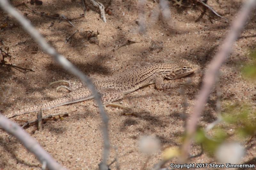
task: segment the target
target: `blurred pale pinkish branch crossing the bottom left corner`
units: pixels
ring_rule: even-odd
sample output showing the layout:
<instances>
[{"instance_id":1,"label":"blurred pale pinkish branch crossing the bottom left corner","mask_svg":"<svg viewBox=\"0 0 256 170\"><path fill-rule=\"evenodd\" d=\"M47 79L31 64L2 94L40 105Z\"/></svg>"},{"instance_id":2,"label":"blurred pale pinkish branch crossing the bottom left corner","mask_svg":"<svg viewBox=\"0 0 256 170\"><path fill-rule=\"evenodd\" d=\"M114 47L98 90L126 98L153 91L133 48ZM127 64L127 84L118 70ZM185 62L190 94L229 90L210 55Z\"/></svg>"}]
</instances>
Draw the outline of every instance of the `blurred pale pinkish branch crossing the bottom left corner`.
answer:
<instances>
[{"instance_id":1,"label":"blurred pale pinkish branch crossing the bottom left corner","mask_svg":"<svg viewBox=\"0 0 256 170\"><path fill-rule=\"evenodd\" d=\"M3 4L2 0L0 4ZM0 126L7 131L9 134L15 136L20 142L28 149L28 151L34 153L37 159L51 170L66 170L58 164L52 156L46 152L36 140L31 137L25 130L23 130L17 123L12 122L10 119L7 119L0 113Z\"/></svg>"}]
</instances>

